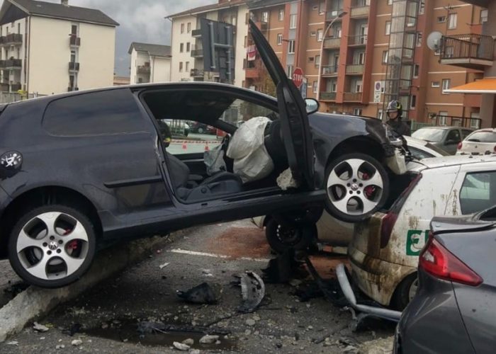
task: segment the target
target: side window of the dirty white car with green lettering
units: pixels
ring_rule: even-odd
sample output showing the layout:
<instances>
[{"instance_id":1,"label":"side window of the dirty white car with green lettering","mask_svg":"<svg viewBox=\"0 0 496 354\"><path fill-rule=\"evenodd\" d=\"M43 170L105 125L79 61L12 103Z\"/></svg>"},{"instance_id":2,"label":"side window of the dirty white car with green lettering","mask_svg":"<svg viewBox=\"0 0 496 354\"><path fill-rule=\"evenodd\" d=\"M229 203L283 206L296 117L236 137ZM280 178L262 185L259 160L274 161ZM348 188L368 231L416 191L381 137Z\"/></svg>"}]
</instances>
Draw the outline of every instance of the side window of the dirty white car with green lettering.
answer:
<instances>
[{"instance_id":1,"label":"side window of the dirty white car with green lettering","mask_svg":"<svg viewBox=\"0 0 496 354\"><path fill-rule=\"evenodd\" d=\"M496 171L467 173L460 190L463 215L480 212L496 204Z\"/></svg>"}]
</instances>

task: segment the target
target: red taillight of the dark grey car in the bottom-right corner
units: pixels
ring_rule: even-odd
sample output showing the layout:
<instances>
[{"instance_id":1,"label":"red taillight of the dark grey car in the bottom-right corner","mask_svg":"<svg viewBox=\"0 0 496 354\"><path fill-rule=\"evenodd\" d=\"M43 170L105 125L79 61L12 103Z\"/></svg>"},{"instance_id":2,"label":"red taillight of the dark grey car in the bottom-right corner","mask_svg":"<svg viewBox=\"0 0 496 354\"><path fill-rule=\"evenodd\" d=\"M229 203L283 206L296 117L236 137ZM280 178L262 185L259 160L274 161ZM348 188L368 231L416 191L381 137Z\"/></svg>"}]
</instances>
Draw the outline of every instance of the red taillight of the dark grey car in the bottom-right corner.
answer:
<instances>
[{"instance_id":1,"label":"red taillight of the dark grey car in the bottom-right corner","mask_svg":"<svg viewBox=\"0 0 496 354\"><path fill-rule=\"evenodd\" d=\"M461 282L471 286L477 286L483 282L477 273L468 268L468 265L456 258L432 236L429 237L429 241L420 253L419 268L436 278L452 282Z\"/></svg>"}]
</instances>

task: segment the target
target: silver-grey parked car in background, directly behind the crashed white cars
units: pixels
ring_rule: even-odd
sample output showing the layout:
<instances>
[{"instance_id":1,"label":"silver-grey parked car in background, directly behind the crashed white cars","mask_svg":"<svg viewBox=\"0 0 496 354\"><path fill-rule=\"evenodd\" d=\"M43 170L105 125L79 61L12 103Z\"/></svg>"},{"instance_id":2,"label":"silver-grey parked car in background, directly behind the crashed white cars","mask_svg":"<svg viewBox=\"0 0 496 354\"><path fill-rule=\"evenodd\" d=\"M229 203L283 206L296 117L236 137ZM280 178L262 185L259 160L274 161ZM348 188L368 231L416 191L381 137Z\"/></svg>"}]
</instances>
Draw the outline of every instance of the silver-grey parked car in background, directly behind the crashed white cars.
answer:
<instances>
[{"instance_id":1,"label":"silver-grey parked car in background, directly behind the crashed white cars","mask_svg":"<svg viewBox=\"0 0 496 354\"><path fill-rule=\"evenodd\" d=\"M413 132L412 137L430 142L434 146L454 155L458 144L468 137L471 132L473 132L473 129L463 127L422 127Z\"/></svg>"}]
</instances>

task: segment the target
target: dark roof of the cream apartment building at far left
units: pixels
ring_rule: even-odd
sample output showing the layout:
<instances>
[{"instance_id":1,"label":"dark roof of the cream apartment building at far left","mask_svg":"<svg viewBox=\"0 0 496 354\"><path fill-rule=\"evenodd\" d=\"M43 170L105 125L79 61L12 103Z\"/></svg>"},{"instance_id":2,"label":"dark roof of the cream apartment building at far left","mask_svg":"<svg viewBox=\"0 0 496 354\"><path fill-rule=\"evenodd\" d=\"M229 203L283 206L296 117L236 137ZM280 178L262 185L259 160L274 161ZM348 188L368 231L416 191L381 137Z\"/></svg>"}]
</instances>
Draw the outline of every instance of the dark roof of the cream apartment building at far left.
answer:
<instances>
[{"instance_id":1,"label":"dark roof of the cream apartment building at far left","mask_svg":"<svg viewBox=\"0 0 496 354\"><path fill-rule=\"evenodd\" d=\"M11 4L21 8L32 16L45 16L52 18L64 18L80 22L98 23L101 25L117 26L119 23L113 21L105 13L94 8L78 6L65 6L60 3L50 3L35 0L8 0Z\"/></svg>"}]
</instances>

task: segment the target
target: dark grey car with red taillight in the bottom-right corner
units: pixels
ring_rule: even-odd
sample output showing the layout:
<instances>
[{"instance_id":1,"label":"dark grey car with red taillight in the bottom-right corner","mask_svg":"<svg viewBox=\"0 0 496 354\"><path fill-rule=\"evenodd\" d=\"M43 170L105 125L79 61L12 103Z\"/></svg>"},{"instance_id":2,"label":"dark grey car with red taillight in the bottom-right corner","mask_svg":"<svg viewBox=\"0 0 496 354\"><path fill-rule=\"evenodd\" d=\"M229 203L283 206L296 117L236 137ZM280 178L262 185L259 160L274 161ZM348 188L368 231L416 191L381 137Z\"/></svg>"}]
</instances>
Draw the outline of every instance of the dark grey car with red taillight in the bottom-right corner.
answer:
<instances>
[{"instance_id":1,"label":"dark grey car with red taillight in the bottom-right corner","mask_svg":"<svg viewBox=\"0 0 496 354\"><path fill-rule=\"evenodd\" d=\"M403 312L394 353L494 353L496 209L436 217L419 257L419 290Z\"/></svg>"}]
</instances>

